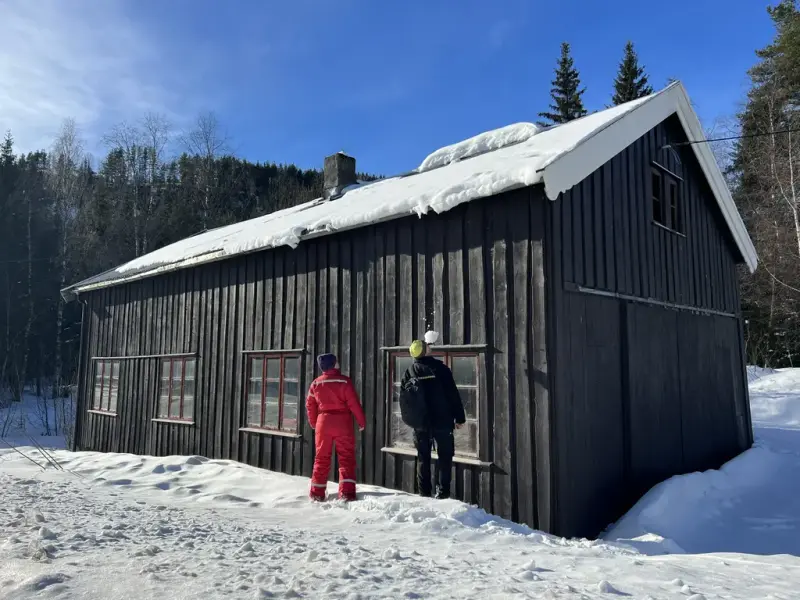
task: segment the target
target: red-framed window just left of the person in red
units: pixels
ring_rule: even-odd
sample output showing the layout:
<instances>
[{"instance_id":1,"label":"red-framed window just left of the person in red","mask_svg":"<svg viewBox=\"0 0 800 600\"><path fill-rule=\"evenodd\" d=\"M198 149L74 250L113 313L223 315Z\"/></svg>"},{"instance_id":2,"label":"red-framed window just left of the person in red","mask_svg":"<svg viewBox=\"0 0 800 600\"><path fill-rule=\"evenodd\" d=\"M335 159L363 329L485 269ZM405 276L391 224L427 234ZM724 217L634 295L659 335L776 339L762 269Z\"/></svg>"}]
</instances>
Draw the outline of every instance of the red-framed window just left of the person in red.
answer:
<instances>
[{"instance_id":1,"label":"red-framed window just left of the person in red","mask_svg":"<svg viewBox=\"0 0 800 600\"><path fill-rule=\"evenodd\" d=\"M247 427L297 432L300 356L251 354L247 374Z\"/></svg>"}]
</instances>

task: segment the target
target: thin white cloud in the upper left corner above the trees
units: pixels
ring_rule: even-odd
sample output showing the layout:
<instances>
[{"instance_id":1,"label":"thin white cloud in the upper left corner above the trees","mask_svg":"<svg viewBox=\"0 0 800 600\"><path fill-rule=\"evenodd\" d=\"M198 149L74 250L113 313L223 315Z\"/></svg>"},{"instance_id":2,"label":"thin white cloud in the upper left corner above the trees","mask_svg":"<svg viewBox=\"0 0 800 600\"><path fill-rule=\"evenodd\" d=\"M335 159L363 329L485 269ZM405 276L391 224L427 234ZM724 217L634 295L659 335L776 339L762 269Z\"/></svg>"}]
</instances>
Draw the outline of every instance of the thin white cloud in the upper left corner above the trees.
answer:
<instances>
[{"instance_id":1,"label":"thin white cloud in the upper left corner above the trees","mask_svg":"<svg viewBox=\"0 0 800 600\"><path fill-rule=\"evenodd\" d=\"M18 150L46 149L71 117L97 150L112 124L147 111L180 122L172 109L190 95L164 62L115 0L0 0L0 132Z\"/></svg>"}]
</instances>

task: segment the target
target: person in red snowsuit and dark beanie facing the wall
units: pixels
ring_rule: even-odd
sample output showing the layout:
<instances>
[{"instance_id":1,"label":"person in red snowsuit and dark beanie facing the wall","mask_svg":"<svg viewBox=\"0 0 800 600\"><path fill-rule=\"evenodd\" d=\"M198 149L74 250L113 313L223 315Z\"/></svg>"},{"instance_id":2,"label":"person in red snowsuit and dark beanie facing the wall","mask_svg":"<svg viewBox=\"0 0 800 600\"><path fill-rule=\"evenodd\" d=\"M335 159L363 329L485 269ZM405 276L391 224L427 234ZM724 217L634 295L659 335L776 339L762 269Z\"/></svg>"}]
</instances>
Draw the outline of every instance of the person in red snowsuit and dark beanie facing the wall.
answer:
<instances>
[{"instance_id":1,"label":"person in red snowsuit and dark beanie facing the wall","mask_svg":"<svg viewBox=\"0 0 800 600\"><path fill-rule=\"evenodd\" d=\"M356 499L356 436L353 417L361 431L367 426L353 382L336 368L336 356L317 357L322 375L311 384L306 398L308 423L316 433L317 455L311 475L312 500L324 500L333 446L339 456L339 498Z\"/></svg>"}]
</instances>

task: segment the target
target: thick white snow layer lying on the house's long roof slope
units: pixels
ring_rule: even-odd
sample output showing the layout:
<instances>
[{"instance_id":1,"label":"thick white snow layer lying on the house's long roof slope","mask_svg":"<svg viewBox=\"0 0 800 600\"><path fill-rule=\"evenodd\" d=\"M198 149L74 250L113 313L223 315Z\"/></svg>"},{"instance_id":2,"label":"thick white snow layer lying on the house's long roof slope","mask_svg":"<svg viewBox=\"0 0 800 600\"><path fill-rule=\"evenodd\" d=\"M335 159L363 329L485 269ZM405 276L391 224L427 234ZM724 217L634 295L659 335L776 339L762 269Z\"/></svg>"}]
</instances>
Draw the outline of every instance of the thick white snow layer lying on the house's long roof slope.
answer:
<instances>
[{"instance_id":1,"label":"thick white snow layer lying on the house's long roof slope","mask_svg":"<svg viewBox=\"0 0 800 600\"><path fill-rule=\"evenodd\" d=\"M88 281L100 283L155 274L169 268L196 265L223 256L277 246L296 247L308 235L360 227L412 214L424 215L431 211L442 213L478 198L540 183L543 169L553 160L574 150L599 130L650 98L653 96L615 106L536 135L533 135L531 127L516 125L502 134L478 136L480 142L468 140L462 143L466 144L464 146L456 144L457 150L451 146L450 149L434 153L437 158L431 158L430 164L444 164L446 160L455 160L456 156L466 158L481 148L497 146L498 149L472 156L469 160L450 162L443 168L429 168L421 173L355 186L332 201L318 199L220 227L165 246ZM523 138L525 141L500 147ZM574 177L577 179L567 187L577 183L581 174L575 173ZM77 287L81 289L81 286Z\"/></svg>"}]
</instances>

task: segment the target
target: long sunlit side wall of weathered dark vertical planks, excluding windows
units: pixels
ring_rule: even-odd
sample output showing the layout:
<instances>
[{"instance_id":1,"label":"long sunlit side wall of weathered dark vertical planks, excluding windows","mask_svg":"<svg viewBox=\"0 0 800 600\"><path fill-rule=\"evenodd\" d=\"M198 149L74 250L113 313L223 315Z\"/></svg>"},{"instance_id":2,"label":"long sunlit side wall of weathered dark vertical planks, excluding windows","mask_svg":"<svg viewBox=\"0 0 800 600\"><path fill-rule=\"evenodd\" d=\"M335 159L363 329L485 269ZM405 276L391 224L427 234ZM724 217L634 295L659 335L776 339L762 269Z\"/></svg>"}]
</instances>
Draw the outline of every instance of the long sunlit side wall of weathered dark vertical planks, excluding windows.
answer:
<instances>
[{"instance_id":1,"label":"long sunlit side wall of weathered dark vertical planks, excluding windows","mask_svg":"<svg viewBox=\"0 0 800 600\"><path fill-rule=\"evenodd\" d=\"M389 444L389 381L379 348L405 346L433 328L440 344L488 346L480 458L494 466L456 465L454 493L539 526L541 507L549 506L536 496L539 486L549 489L542 475L549 472L547 346L544 332L533 329L538 323L544 330L546 314L544 214L544 198L529 188L87 294L86 356L129 358L121 363L117 417L86 412L93 373L87 361L78 445L233 458L308 476L314 438L302 408L299 439L239 431L242 351L304 348L307 388L316 355L330 350L367 414L357 444L359 480L414 491L415 459L381 451ZM152 422L160 362L135 357L194 352L194 425Z\"/></svg>"}]
</instances>

